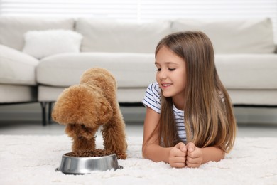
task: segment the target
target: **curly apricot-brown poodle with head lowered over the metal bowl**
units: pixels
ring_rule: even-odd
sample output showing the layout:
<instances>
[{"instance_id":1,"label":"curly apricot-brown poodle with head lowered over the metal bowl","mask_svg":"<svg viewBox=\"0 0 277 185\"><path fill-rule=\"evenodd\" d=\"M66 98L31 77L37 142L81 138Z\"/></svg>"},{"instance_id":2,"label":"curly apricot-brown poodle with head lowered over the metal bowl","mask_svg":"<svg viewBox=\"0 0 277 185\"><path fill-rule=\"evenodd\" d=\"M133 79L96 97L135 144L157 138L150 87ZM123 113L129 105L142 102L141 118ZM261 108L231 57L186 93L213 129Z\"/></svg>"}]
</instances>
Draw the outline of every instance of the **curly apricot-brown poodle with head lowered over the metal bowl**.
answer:
<instances>
[{"instance_id":1,"label":"curly apricot-brown poodle with head lowered over the metal bowl","mask_svg":"<svg viewBox=\"0 0 277 185\"><path fill-rule=\"evenodd\" d=\"M66 125L72 152L95 149L95 133L102 125L104 149L126 159L125 123L116 98L116 80L108 70L90 68L80 84L60 94L53 107L53 120Z\"/></svg>"}]
</instances>

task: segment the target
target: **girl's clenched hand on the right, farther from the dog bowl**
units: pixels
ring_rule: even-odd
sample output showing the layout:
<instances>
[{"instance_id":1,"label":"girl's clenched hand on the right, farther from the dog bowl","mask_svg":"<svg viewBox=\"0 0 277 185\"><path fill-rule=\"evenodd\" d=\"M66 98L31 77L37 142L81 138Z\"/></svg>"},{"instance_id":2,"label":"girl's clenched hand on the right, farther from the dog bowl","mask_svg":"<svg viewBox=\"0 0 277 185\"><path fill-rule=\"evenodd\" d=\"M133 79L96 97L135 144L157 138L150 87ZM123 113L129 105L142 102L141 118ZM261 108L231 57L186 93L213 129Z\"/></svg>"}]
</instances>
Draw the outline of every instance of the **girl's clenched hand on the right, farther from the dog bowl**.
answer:
<instances>
[{"instance_id":1,"label":"girl's clenched hand on the right, farther from the dog bowl","mask_svg":"<svg viewBox=\"0 0 277 185\"><path fill-rule=\"evenodd\" d=\"M187 159L186 164L189 168L197 168L202 164L203 153L202 149L195 147L195 144L189 142L187 144Z\"/></svg>"}]
</instances>

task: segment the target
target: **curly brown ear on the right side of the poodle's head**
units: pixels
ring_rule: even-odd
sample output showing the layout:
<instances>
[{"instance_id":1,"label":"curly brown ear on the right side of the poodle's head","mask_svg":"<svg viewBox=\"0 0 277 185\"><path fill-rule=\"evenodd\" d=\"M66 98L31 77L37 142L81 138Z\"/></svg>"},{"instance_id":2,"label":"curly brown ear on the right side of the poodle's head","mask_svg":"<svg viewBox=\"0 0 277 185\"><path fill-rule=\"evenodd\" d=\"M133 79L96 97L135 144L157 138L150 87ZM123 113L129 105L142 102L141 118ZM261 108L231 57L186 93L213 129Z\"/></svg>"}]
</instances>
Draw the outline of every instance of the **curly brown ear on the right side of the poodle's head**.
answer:
<instances>
[{"instance_id":1,"label":"curly brown ear on the right side of the poodle's head","mask_svg":"<svg viewBox=\"0 0 277 185\"><path fill-rule=\"evenodd\" d=\"M105 124L111 120L113 110L106 98L99 99L99 122Z\"/></svg>"}]
</instances>

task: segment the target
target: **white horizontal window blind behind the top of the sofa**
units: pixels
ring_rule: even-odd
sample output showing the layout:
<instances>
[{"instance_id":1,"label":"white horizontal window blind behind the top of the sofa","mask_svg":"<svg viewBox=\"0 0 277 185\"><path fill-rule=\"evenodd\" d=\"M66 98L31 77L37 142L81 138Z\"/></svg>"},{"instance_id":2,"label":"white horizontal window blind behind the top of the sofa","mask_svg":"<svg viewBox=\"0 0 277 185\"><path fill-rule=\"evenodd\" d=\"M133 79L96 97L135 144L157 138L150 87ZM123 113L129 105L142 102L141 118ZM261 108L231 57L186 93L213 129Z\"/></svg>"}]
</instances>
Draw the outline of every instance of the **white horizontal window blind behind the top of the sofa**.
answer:
<instances>
[{"instance_id":1,"label":"white horizontal window blind behind the top of the sofa","mask_svg":"<svg viewBox=\"0 0 277 185\"><path fill-rule=\"evenodd\" d=\"M123 21L269 17L277 41L277 0L0 0L0 15L92 17Z\"/></svg>"}]
</instances>

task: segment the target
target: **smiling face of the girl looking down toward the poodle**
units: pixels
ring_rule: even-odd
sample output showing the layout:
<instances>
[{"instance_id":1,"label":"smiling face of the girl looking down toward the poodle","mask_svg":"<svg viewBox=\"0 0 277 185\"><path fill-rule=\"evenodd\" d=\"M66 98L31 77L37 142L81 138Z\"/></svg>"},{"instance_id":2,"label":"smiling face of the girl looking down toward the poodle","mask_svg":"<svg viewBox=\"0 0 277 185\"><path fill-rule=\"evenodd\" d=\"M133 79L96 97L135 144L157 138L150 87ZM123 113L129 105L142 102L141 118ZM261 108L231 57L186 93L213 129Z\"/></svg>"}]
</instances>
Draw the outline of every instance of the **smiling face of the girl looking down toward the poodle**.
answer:
<instances>
[{"instance_id":1,"label":"smiling face of the girl looking down toward the poodle","mask_svg":"<svg viewBox=\"0 0 277 185\"><path fill-rule=\"evenodd\" d=\"M183 105L187 83L185 60L163 46L156 54L156 80L164 97L172 97L176 105ZM182 107L183 108L183 107Z\"/></svg>"}]
</instances>

